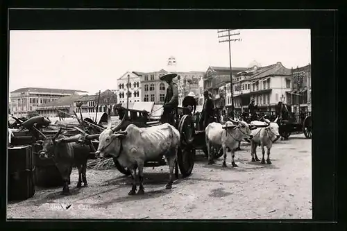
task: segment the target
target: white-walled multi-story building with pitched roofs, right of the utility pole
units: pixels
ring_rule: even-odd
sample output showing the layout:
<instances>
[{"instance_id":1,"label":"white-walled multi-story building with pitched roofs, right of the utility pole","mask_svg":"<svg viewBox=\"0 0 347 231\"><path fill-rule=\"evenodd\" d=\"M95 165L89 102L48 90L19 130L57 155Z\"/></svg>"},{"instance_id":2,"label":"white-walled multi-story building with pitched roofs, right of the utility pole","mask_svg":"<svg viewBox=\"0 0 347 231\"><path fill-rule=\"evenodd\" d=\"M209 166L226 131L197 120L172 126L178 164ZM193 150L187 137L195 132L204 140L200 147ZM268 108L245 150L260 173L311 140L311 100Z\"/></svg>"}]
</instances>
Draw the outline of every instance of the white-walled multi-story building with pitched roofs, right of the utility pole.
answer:
<instances>
[{"instance_id":1,"label":"white-walled multi-story building with pitched roofs, right of the utility pole","mask_svg":"<svg viewBox=\"0 0 347 231\"><path fill-rule=\"evenodd\" d=\"M286 102L292 88L291 69L281 62L266 67L246 69L232 79L235 110L247 108L255 99L260 111L274 111L278 101ZM230 85L227 85L227 105L231 104Z\"/></svg>"}]
</instances>

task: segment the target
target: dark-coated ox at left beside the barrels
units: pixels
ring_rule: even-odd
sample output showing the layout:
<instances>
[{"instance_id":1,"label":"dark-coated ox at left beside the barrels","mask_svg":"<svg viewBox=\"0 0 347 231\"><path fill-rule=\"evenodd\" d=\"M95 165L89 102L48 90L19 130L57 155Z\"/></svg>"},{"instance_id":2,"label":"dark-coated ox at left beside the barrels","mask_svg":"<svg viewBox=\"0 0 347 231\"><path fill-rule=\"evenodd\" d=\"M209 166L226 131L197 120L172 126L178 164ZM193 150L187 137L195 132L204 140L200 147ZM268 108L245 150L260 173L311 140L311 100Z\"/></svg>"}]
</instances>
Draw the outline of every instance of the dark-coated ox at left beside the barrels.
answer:
<instances>
[{"instance_id":1,"label":"dark-coated ox at left beside the barrels","mask_svg":"<svg viewBox=\"0 0 347 231\"><path fill-rule=\"evenodd\" d=\"M90 147L78 142L66 142L68 139L81 139L83 135L78 134L72 137L66 137L60 134L62 128L54 137L45 137L45 139L37 141L42 144L42 150L38 152L40 159L53 159L62 176L63 187L62 195L70 195L69 183L72 167L76 165L78 169L77 188L87 187L87 157L90 153Z\"/></svg>"}]
</instances>

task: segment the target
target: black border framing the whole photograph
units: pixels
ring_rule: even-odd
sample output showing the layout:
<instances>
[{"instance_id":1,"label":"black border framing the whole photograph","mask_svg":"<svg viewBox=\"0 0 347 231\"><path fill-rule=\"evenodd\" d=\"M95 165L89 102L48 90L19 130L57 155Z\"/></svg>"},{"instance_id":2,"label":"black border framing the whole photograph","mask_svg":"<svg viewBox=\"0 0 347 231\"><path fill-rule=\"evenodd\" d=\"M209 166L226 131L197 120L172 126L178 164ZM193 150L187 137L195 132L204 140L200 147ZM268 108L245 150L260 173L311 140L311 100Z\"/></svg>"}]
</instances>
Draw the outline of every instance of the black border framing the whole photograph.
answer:
<instances>
[{"instance_id":1,"label":"black border framing the whole photograph","mask_svg":"<svg viewBox=\"0 0 347 231\"><path fill-rule=\"evenodd\" d=\"M15 6L13 6L15 7ZM17 6L19 7L19 6ZM337 16L335 10L208 10L163 9L35 9L12 8L2 28L30 29L217 29L217 28L310 28L312 50L312 220L30 220L30 228L97 228L121 230L337 230L346 228L346 207L337 203L337 176L344 176L337 155ZM27 6L29 7L29 6ZM34 7L34 6L31 6ZM46 6L49 7L49 6ZM53 7L53 6L50 6ZM92 7L92 6L90 6ZM96 6L94 6L96 7ZM103 8L99 6L99 8ZM4 19L4 18L3 18ZM8 49L8 31L3 34ZM290 38L288 38L290 40ZM8 55L8 53L5 53ZM6 60L8 56L4 57ZM5 73L8 76L8 63ZM8 99L7 85L3 90ZM6 92L6 93L5 93ZM8 100L4 107L8 104ZM322 106L323 105L323 106ZM6 106L8 108L8 106ZM328 121L327 121L328 119ZM6 125L5 125L6 123ZM3 131L7 121L3 120ZM344 153L339 153L341 154ZM339 159L339 162L338 162ZM6 155L1 155L1 195L6 195ZM295 162L288 163L295 164ZM339 174L337 175L337 165ZM339 178L341 185L341 177ZM342 180L343 182L343 180ZM344 199L345 200L345 199ZM346 200L345 200L346 201ZM250 202L251 203L251 202ZM6 197L1 196L2 218L6 221ZM339 221L339 222L337 222ZM145 223L145 224L142 224ZM1 225L2 226L2 225ZM28 228L26 222L6 222L8 228Z\"/></svg>"}]
</instances>

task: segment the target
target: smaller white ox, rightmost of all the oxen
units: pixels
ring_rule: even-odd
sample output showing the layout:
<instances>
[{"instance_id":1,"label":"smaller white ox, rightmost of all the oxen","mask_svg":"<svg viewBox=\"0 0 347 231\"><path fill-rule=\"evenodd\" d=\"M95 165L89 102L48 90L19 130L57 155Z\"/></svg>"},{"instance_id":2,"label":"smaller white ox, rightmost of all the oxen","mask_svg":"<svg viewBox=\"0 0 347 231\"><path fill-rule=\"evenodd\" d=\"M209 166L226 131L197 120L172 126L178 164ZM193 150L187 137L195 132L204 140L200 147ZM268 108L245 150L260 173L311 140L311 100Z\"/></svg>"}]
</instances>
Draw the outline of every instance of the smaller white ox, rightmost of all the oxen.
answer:
<instances>
[{"instance_id":1,"label":"smaller white ox, rightmost of all the oxen","mask_svg":"<svg viewBox=\"0 0 347 231\"><path fill-rule=\"evenodd\" d=\"M280 137L280 133L278 132L278 118L275 119L275 121L270 122L268 119L264 119L265 122L262 121L251 121L251 126L266 126L263 128L256 128L255 130L252 130L253 138L251 139L251 156L252 161L259 161L257 157L257 146L262 147L262 164L265 164L264 155L265 155L265 149L264 146L267 148L267 159L266 163L271 164L270 160L270 150L272 147L273 142L276 142L276 140Z\"/></svg>"}]
</instances>

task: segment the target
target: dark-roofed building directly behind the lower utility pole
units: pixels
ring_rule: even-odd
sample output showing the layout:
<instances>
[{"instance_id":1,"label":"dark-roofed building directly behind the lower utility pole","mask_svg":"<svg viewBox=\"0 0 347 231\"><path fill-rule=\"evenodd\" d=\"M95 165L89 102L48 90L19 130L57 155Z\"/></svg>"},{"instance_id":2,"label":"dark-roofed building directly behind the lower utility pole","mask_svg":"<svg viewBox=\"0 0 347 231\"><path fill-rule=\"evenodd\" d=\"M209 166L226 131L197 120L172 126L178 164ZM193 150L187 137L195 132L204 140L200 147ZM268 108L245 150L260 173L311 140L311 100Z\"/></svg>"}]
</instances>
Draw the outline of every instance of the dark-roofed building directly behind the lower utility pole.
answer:
<instances>
[{"instance_id":1,"label":"dark-roofed building directly behind the lower utility pole","mask_svg":"<svg viewBox=\"0 0 347 231\"><path fill-rule=\"evenodd\" d=\"M232 67L232 76L235 77L240 71L245 71L246 69L246 67ZM208 67L203 76L203 87L212 93L214 105L219 105L219 87L224 87L227 83L230 83L230 67ZM229 90L226 89L225 99L228 99L228 91L230 94L230 85Z\"/></svg>"}]
</instances>

